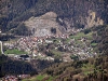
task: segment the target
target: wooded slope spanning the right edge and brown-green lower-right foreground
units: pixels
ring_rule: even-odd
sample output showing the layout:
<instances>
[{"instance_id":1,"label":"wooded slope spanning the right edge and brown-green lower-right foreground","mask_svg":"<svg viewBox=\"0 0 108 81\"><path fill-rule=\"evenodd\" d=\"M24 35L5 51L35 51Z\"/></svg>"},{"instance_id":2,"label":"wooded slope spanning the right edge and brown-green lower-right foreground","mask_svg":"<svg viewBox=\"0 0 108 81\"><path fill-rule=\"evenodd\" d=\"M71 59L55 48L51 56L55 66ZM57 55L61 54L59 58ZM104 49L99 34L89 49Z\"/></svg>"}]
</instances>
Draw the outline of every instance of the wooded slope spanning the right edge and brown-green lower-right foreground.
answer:
<instances>
[{"instance_id":1,"label":"wooded slope spanning the right edge and brown-green lower-right foreground","mask_svg":"<svg viewBox=\"0 0 108 81\"><path fill-rule=\"evenodd\" d=\"M108 26L98 26L84 30L93 32L95 51L102 53L94 58L56 63L45 68L41 73L23 81L107 81L108 80Z\"/></svg>"}]
</instances>

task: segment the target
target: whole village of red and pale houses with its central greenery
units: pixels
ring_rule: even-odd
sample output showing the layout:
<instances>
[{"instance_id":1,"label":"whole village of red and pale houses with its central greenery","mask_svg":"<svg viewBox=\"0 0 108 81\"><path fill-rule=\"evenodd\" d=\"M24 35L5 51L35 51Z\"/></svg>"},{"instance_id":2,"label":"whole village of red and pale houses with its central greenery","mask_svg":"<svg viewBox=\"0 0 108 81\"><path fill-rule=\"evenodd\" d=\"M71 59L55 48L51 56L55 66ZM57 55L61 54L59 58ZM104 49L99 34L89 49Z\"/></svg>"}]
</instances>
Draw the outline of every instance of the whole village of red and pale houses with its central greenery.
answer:
<instances>
[{"instance_id":1,"label":"whole village of red and pale houses with its central greenery","mask_svg":"<svg viewBox=\"0 0 108 81\"><path fill-rule=\"evenodd\" d=\"M75 60L76 58L85 59L89 57L94 57L96 55L96 53L93 52L93 48L91 45L87 45L87 38L80 37L78 39L78 43L76 42L75 38L70 37L71 36L69 35L22 37L14 42L4 42L3 45L6 46L9 50L16 49L18 51L23 51L24 53L6 53L5 55L14 59L23 59L28 62L30 59L54 60L56 56L59 57L59 60L70 62ZM52 55L49 55L46 53L51 53Z\"/></svg>"}]
</instances>

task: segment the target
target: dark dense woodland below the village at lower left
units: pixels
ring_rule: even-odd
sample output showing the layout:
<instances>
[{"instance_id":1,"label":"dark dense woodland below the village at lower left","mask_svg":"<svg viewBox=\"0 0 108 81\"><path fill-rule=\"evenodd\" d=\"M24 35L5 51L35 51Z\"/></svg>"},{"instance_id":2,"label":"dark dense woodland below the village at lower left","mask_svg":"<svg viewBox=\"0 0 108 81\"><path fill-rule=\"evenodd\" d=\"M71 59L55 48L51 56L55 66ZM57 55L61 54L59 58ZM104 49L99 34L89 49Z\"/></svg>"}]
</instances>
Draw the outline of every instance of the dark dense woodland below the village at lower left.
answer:
<instances>
[{"instance_id":1,"label":"dark dense woodland below the village at lower left","mask_svg":"<svg viewBox=\"0 0 108 81\"><path fill-rule=\"evenodd\" d=\"M13 60L8 56L0 55L0 78L6 75L36 75L37 70L29 63Z\"/></svg>"}]
</instances>

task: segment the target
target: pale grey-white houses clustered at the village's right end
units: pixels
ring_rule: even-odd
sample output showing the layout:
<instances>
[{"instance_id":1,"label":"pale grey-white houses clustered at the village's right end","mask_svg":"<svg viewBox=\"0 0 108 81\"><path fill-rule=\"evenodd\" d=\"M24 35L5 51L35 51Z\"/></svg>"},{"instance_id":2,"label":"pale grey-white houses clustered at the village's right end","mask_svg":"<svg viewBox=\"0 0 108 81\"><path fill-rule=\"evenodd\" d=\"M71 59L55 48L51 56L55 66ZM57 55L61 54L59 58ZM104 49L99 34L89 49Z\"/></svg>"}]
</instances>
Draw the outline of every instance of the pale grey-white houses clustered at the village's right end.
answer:
<instances>
[{"instance_id":1,"label":"pale grey-white houses clustered at the village's right end","mask_svg":"<svg viewBox=\"0 0 108 81\"><path fill-rule=\"evenodd\" d=\"M81 41L82 41L82 39L81 39ZM81 45L76 45L76 46L72 45L71 50L72 50L72 54L75 56L78 56L79 59L86 59L89 57L95 57L97 55L97 53L93 52L92 46L86 45L84 40L82 41Z\"/></svg>"}]
</instances>

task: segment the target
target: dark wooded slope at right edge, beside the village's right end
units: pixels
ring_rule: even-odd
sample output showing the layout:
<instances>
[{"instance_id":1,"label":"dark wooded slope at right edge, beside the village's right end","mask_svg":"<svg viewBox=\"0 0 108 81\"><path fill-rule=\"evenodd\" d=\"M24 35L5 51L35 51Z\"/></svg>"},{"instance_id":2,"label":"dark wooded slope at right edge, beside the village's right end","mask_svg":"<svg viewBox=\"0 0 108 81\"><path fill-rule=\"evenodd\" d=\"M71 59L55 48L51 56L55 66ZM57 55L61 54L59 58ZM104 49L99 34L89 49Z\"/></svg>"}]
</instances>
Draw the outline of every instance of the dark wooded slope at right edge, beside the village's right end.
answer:
<instances>
[{"instance_id":1,"label":"dark wooded slope at right edge, beside the village's right end","mask_svg":"<svg viewBox=\"0 0 108 81\"><path fill-rule=\"evenodd\" d=\"M94 27L94 40L92 42L97 43L95 48L100 54L108 55L108 25Z\"/></svg>"}]
</instances>

